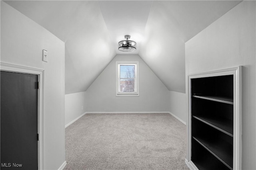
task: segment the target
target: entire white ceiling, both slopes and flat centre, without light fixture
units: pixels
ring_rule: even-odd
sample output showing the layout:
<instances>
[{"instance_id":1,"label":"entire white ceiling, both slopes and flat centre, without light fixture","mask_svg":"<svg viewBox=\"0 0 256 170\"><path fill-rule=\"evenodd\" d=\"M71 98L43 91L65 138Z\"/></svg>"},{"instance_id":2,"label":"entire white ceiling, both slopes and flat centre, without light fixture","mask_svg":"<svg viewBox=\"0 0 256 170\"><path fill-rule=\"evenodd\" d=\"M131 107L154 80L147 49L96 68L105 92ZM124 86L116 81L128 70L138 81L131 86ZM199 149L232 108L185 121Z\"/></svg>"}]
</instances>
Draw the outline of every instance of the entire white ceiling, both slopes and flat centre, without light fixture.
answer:
<instances>
[{"instance_id":1,"label":"entire white ceiling, both slopes and flat centre, without light fixture","mask_svg":"<svg viewBox=\"0 0 256 170\"><path fill-rule=\"evenodd\" d=\"M65 42L66 94L86 91L131 35L165 86L185 92L185 42L241 1L4 1ZM50 55L50 51L49 51Z\"/></svg>"}]
</instances>

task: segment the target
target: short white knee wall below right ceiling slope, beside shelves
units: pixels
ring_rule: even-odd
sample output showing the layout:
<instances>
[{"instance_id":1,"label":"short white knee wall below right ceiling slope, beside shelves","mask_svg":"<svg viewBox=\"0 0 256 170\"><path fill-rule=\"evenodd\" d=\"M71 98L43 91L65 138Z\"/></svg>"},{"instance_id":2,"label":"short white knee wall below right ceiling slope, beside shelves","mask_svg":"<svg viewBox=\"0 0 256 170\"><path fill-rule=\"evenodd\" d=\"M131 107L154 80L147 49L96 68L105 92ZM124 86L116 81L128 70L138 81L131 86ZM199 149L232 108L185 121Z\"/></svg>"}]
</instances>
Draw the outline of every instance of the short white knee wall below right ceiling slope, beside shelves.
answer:
<instances>
[{"instance_id":1,"label":"short white knee wall below right ceiling slope, beside shelves","mask_svg":"<svg viewBox=\"0 0 256 170\"><path fill-rule=\"evenodd\" d=\"M187 123L187 97L186 93L179 93L170 91L170 112L181 119L184 123Z\"/></svg>"}]
</instances>

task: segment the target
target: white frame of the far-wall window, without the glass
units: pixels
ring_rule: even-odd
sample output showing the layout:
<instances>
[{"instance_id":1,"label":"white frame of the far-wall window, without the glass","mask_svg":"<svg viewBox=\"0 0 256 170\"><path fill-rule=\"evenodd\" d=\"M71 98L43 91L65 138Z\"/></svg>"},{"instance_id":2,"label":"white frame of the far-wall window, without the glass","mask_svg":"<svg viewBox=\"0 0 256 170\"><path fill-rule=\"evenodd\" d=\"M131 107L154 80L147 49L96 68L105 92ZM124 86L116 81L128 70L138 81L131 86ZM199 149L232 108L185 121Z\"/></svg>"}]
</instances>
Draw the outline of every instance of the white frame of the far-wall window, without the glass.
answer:
<instances>
[{"instance_id":1,"label":"white frame of the far-wall window, without the glass","mask_svg":"<svg viewBox=\"0 0 256 170\"><path fill-rule=\"evenodd\" d=\"M120 92L120 65L134 65L134 92ZM138 61L116 61L116 96L139 96L139 62Z\"/></svg>"}]
</instances>

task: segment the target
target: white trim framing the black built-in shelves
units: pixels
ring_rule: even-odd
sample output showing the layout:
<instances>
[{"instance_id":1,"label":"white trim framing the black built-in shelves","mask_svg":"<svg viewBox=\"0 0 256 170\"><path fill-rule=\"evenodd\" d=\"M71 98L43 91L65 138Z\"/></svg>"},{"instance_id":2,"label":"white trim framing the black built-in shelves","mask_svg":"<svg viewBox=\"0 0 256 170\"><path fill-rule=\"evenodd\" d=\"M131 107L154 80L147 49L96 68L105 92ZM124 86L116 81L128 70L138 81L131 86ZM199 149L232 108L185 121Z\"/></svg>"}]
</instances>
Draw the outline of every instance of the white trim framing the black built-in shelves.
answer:
<instances>
[{"instance_id":1,"label":"white trim framing the black built-in shelves","mask_svg":"<svg viewBox=\"0 0 256 170\"><path fill-rule=\"evenodd\" d=\"M194 163L191 161L191 79L193 78L205 78L214 76L226 76L233 75L234 77L234 136L233 136L233 170L242 169L242 66L214 70L208 72L201 72L188 75L188 122L187 122L187 156L186 164L190 169L197 169ZM193 166L192 166L193 165Z\"/></svg>"}]
</instances>

